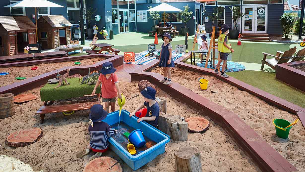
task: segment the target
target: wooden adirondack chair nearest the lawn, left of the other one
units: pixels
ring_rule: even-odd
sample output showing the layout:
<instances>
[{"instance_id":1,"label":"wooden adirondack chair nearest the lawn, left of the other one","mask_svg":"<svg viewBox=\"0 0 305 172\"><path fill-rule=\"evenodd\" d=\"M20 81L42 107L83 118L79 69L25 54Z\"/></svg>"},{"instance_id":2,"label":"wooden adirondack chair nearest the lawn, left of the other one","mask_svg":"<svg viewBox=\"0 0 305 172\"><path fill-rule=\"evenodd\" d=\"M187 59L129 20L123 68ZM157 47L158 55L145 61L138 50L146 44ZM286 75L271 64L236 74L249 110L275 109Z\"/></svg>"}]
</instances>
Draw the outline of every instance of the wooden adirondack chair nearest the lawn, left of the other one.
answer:
<instances>
[{"instance_id":1,"label":"wooden adirondack chair nearest the lawn, left of the other one","mask_svg":"<svg viewBox=\"0 0 305 172\"><path fill-rule=\"evenodd\" d=\"M282 55L282 57L274 56L268 53L263 53L264 57L262 61L262 66L260 70L264 70L264 65L267 64L270 66L272 69L276 70L275 65L276 64L282 64L282 63L287 63L289 59L293 58L293 54L296 52L296 47L293 47L287 51L285 51ZM266 59L267 56L274 57L273 59Z\"/></svg>"}]
</instances>

